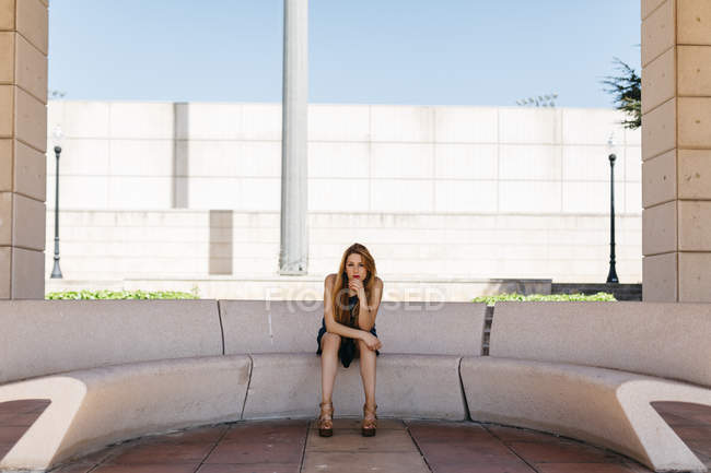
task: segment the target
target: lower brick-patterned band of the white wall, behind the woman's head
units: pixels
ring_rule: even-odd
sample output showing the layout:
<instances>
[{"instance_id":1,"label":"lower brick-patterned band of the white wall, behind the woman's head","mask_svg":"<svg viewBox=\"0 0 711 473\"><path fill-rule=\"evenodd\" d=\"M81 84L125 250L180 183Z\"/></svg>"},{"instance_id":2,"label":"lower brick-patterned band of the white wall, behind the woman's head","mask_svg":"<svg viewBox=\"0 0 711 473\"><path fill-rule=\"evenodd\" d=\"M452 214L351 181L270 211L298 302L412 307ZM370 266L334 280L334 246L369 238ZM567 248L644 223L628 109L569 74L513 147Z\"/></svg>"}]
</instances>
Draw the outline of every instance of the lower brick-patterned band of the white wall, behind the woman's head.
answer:
<instances>
[{"instance_id":1,"label":"lower brick-patterned band of the white wall, behind the woman's head","mask_svg":"<svg viewBox=\"0 0 711 473\"><path fill-rule=\"evenodd\" d=\"M48 212L46 268L51 270L54 213ZM205 279L209 211L62 211L61 269L69 280ZM232 268L238 276L276 274L279 214L233 214ZM604 282L609 217L312 212L310 273L336 271L353 241L377 271L436 279L532 277ZM641 220L617 220L617 273L641 281Z\"/></svg>"}]
</instances>

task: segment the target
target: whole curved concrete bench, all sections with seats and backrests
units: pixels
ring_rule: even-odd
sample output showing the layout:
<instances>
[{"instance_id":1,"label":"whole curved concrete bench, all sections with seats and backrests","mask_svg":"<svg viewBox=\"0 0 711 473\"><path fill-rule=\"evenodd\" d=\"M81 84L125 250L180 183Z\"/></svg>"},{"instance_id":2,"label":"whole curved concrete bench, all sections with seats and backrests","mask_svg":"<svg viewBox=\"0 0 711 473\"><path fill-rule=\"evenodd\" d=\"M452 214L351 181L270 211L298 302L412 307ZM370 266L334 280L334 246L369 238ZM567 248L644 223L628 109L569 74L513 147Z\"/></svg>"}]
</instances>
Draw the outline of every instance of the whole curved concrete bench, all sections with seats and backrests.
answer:
<instances>
[{"instance_id":1,"label":"whole curved concrete bench, all sections with seats and backrests","mask_svg":"<svg viewBox=\"0 0 711 473\"><path fill-rule=\"evenodd\" d=\"M0 470L42 471L178 428L315 417L323 306L303 304L0 303L0 402L50 401ZM378 414L468 414L590 441L655 471L706 471L651 403L711 405L710 305L502 303L489 357L485 312L383 303ZM362 414L359 368L338 368L338 416Z\"/></svg>"}]
</instances>

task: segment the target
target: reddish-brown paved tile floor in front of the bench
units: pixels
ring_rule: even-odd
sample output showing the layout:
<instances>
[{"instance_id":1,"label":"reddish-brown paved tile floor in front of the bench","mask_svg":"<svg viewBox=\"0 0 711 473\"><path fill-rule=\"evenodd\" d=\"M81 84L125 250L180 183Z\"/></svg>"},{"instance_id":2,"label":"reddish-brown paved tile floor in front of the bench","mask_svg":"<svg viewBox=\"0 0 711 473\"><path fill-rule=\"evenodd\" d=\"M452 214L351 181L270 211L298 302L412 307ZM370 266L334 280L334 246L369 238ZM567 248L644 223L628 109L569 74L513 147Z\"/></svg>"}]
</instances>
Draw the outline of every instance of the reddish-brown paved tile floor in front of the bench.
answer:
<instances>
[{"instance_id":1,"label":"reddish-brown paved tile floor in front of the bench","mask_svg":"<svg viewBox=\"0 0 711 473\"><path fill-rule=\"evenodd\" d=\"M46 409L46 401L0 404L0 456ZM711 407L655 403L711 468ZM474 422L381 418L377 436L338 418L322 438L310 421L220 424L110 446L53 473L641 473L636 461L587 444Z\"/></svg>"}]
</instances>

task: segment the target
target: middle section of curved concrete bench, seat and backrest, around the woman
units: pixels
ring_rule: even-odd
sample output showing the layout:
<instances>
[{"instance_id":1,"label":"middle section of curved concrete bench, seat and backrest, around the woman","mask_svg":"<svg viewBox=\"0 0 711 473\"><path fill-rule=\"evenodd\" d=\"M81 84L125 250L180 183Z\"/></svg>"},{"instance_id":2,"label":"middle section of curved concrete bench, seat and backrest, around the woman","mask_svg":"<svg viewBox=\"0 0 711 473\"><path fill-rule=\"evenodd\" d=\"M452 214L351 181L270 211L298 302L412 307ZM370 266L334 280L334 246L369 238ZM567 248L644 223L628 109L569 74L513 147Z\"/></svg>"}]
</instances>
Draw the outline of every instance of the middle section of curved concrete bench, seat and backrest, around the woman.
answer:
<instances>
[{"instance_id":1,"label":"middle section of curved concrete bench, seat and backrest, around the woman","mask_svg":"<svg viewBox=\"0 0 711 473\"><path fill-rule=\"evenodd\" d=\"M323 303L220 300L225 354L248 353L252 376L243 417L313 417L320 400L316 332ZM376 327L378 415L465 419L463 355L481 355L485 304L382 303ZM270 323L271 320L271 323ZM271 330L270 330L271 327ZM337 415L362 415L360 366L339 364Z\"/></svg>"}]
</instances>

